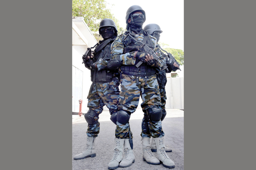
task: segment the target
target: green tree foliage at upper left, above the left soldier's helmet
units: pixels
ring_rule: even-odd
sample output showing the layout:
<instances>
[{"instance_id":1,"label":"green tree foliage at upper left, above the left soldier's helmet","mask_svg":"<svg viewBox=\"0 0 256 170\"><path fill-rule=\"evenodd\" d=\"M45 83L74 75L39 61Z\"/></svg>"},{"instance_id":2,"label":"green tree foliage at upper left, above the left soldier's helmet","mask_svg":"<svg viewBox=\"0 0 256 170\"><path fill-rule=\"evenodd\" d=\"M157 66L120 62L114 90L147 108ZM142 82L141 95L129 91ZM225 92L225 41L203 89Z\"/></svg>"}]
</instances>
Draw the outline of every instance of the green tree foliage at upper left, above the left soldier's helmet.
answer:
<instances>
[{"instance_id":1,"label":"green tree foliage at upper left, above the left soldier's helmet","mask_svg":"<svg viewBox=\"0 0 256 170\"><path fill-rule=\"evenodd\" d=\"M72 16L83 16L85 23L94 34L99 29L100 21L105 18L114 20L118 33L124 32L124 29L119 26L119 21L106 8L105 0L72 0ZM98 37L95 38L98 39Z\"/></svg>"}]
</instances>

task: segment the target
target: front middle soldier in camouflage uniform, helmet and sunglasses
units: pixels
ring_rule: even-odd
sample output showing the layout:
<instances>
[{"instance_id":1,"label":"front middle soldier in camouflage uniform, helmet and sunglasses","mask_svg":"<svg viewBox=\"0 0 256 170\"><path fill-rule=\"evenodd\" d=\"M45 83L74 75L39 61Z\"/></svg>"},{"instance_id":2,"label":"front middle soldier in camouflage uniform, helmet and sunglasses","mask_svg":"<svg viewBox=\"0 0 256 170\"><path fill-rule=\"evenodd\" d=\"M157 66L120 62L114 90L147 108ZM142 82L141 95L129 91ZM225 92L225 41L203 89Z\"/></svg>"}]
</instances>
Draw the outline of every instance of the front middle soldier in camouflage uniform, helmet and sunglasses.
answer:
<instances>
[{"instance_id":1,"label":"front middle soldier in camouflage uniform, helmet and sunglasses","mask_svg":"<svg viewBox=\"0 0 256 170\"><path fill-rule=\"evenodd\" d=\"M157 53L159 49L156 47L156 38L142 29L145 20L145 11L139 5L131 6L126 12L127 31L116 38L113 48L111 48L112 59L110 61L110 68L120 67L121 93L118 104L119 111L117 112L117 127L115 130L115 152L109 162L108 169L128 167L135 161L132 151L132 134L129 134L129 119L139 104L140 96L143 100L141 106L145 108L150 118L150 135L158 140L159 150L161 147L164 147L164 132L161 126L161 98L156 72L165 64L165 60L161 56L161 53ZM138 46L141 46L141 44L136 42L136 40L147 44L156 52L159 58L155 59L152 55L143 51L143 49L138 49ZM137 64L140 61L142 64L138 66ZM143 139L142 142L143 160L149 164L160 164L160 161L152 155L148 140ZM123 149L124 158L122 158ZM160 155L163 157L166 153L161 151ZM174 168L173 161L171 159L168 160L164 160L164 164Z\"/></svg>"}]
</instances>

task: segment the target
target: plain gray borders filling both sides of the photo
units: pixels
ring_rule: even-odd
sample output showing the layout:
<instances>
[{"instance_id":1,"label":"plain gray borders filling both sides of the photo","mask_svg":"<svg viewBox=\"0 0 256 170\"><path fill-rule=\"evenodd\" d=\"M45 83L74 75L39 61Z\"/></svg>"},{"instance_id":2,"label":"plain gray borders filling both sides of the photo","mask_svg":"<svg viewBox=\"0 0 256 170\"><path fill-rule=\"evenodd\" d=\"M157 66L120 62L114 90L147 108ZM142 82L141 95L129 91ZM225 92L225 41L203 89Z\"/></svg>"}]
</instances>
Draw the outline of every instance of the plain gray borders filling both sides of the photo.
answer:
<instances>
[{"instance_id":1,"label":"plain gray borders filling both sides of the photo","mask_svg":"<svg viewBox=\"0 0 256 170\"><path fill-rule=\"evenodd\" d=\"M3 169L72 169L71 6L0 4ZM186 170L254 163L254 7L185 0Z\"/></svg>"}]
</instances>

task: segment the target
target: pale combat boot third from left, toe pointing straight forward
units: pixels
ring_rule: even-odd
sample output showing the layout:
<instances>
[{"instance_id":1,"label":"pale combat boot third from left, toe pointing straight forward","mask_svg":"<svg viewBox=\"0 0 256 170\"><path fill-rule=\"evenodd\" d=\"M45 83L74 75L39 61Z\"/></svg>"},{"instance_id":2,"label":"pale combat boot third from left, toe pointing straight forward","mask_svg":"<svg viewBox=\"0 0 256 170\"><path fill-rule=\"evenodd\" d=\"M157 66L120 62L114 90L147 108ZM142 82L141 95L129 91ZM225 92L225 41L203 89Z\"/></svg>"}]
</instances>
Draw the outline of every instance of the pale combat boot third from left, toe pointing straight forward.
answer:
<instances>
[{"instance_id":1,"label":"pale combat boot third from left, toe pointing straight forward","mask_svg":"<svg viewBox=\"0 0 256 170\"><path fill-rule=\"evenodd\" d=\"M135 162L134 152L129 143L129 139L124 139L124 158L122 159L119 167L126 168Z\"/></svg>"}]
</instances>

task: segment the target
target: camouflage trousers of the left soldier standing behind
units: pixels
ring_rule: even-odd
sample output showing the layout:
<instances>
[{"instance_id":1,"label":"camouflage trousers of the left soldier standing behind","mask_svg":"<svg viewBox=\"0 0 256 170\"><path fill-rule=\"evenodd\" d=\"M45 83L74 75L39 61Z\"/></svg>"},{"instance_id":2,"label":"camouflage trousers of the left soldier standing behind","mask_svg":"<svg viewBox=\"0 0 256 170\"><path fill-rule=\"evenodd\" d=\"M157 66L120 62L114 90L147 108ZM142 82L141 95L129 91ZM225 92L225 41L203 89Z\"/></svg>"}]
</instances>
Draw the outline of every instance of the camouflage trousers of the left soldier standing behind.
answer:
<instances>
[{"instance_id":1,"label":"camouflage trousers of the left soldier standing behind","mask_svg":"<svg viewBox=\"0 0 256 170\"><path fill-rule=\"evenodd\" d=\"M87 97L87 107L96 113L94 115L95 121L99 119L99 114L102 113L105 105L109 109L110 115L117 112L119 93L119 80L117 78L109 83L91 84ZM97 137L100 133L100 122L88 124L86 133L89 137Z\"/></svg>"}]
</instances>

